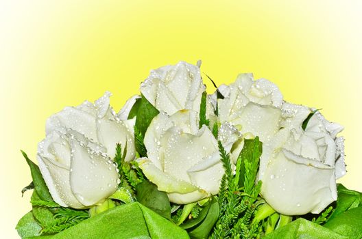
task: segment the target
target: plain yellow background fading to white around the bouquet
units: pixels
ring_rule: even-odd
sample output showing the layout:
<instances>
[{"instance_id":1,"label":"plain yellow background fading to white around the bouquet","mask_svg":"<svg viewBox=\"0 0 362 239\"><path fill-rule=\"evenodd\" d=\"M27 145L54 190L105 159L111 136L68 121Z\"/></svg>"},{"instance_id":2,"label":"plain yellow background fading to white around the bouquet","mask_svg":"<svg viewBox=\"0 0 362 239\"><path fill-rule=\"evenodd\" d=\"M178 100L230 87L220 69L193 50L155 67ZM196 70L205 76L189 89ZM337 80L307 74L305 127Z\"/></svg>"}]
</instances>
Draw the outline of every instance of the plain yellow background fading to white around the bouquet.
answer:
<instances>
[{"instance_id":1,"label":"plain yellow background fading to white around the bouquet","mask_svg":"<svg viewBox=\"0 0 362 239\"><path fill-rule=\"evenodd\" d=\"M221 1L220 1L221 3ZM196 63L218 84L240 72L346 126L348 174L362 191L361 1L1 1L1 236L30 210L19 150L35 158L45 119L114 94L117 111L150 69ZM212 92L213 87L206 81Z\"/></svg>"}]
</instances>

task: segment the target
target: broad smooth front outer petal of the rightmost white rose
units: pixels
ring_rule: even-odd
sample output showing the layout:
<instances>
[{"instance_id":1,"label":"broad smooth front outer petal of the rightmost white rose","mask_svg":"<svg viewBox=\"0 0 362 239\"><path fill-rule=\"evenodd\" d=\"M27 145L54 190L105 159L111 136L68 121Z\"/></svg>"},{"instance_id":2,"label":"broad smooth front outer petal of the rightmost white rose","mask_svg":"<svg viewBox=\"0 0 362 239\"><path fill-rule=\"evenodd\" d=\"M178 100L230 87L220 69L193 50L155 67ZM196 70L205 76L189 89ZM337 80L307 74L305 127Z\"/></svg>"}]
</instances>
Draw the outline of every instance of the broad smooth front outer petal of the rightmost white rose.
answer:
<instances>
[{"instance_id":1,"label":"broad smooth front outer petal of the rightmost white rose","mask_svg":"<svg viewBox=\"0 0 362 239\"><path fill-rule=\"evenodd\" d=\"M265 171L261 194L281 214L317 214L337 199L335 170L282 150Z\"/></svg>"}]
</instances>

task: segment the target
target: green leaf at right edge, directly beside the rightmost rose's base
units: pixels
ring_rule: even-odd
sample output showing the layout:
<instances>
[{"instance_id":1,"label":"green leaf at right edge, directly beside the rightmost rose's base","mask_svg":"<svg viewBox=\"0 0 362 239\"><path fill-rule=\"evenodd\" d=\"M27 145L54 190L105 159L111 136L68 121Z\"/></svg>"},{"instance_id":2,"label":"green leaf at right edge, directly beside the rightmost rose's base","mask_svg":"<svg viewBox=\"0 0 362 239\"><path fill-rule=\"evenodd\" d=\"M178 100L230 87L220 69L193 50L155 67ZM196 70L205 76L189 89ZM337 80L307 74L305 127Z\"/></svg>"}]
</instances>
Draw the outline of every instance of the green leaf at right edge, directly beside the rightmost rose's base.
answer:
<instances>
[{"instance_id":1,"label":"green leaf at right edge, directly beside the rightmost rose's base","mask_svg":"<svg viewBox=\"0 0 362 239\"><path fill-rule=\"evenodd\" d=\"M357 191L352 191L344 187L342 184L337 184L338 197L336 202L336 207L332 215L330 215L330 219L333 219L335 216L338 216L342 212L346 210L350 210L352 208L357 208L361 205L361 195Z\"/></svg>"}]
</instances>

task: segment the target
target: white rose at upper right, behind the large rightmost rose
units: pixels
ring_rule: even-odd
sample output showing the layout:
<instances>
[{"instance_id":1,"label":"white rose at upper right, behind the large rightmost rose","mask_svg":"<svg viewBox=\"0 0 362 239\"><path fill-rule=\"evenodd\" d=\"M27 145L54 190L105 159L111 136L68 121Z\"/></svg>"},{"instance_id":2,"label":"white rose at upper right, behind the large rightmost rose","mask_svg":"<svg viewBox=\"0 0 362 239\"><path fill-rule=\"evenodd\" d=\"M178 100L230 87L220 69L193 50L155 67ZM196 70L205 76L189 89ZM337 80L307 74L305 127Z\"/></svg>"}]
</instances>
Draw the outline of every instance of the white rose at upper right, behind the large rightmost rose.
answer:
<instances>
[{"instance_id":1,"label":"white rose at upper right, behind the large rightmost rose","mask_svg":"<svg viewBox=\"0 0 362 239\"><path fill-rule=\"evenodd\" d=\"M221 122L230 122L243 134L268 141L279 130L282 94L265 79L253 81L252 74L240 74L230 86L221 87L224 99L218 100Z\"/></svg>"}]
</instances>

